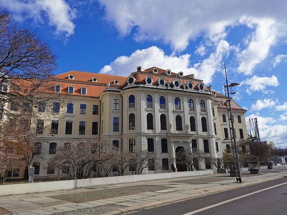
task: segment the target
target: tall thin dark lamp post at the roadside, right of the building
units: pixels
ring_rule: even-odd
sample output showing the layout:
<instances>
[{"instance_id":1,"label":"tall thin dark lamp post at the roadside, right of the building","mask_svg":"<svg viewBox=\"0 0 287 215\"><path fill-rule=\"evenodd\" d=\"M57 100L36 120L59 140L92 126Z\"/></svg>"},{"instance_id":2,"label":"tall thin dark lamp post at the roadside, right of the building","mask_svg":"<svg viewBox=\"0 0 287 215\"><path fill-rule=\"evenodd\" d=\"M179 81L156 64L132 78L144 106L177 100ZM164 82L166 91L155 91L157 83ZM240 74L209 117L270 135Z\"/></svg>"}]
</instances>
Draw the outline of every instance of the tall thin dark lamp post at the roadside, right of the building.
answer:
<instances>
[{"instance_id":1,"label":"tall thin dark lamp post at the roadside, right of the building","mask_svg":"<svg viewBox=\"0 0 287 215\"><path fill-rule=\"evenodd\" d=\"M233 156L234 156L234 163L235 163L235 170L236 170L236 182L241 183L241 173L240 173L240 165L239 165L239 157L238 157L238 149L237 149L237 143L236 143L236 137L235 137L235 129L234 129L234 121L233 121L233 115L232 115L232 108L230 104L230 94L235 94L236 92L232 91L233 86L239 85L239 83L230 83L228 84L227 80L227 72L226 72L226 66L224 63L224 69L225 69L225 77L226 77L226 85L224 85L224 91L225 91L225 98L226 98L226 91L227 91L227 98L226 104L227 104L227 113L228 113L228 119L229 119L229 127L230 127L230 121L231 121L231 144L233 148ZM231 89L231 91L229 90ZM233 141L232 141L233 140Z\"/></svg>"}]
</instances>

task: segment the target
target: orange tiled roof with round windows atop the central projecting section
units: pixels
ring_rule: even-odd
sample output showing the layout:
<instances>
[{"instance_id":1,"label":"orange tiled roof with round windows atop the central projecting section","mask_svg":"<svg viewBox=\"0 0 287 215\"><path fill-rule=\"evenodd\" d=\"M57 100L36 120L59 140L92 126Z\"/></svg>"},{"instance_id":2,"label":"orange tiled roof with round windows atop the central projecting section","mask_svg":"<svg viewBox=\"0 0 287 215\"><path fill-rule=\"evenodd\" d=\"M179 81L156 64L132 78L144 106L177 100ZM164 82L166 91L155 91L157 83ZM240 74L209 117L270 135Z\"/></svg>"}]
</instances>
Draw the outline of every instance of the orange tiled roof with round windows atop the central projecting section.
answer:
<instances>
[{"instance_id":1,"label":"orange tiled roof with round windows atop the central projecting section","mask_svg":"<svg viewBox=\"0 0 287 215\"><path fill-rule=\"evenodd\" d=\"M162 70L163 70L163 69L162 69ZM164 70L164 71L165 71L165 70ZM175 78L175 76L171 76L171 75L170 75L170 76L168 76L168 75L166 75L166 76L160 76L160 75L156 75L156 74L153 75L153 73L149 73L148 75L152 77L152 81L153 81L152 84L153 84L153 85L159 85L159 84L158 84L158 79L159 79L159 78L163 78L166 83L167 83L167 81L169 81L170 83L172 83L172 81L173 81L174 78ZM145 78L146 78L147 74L140 73L140 72L136 72L136 73L133 74L133 76L136 78L135 83L145 84ZM180 78L180 77L176 77L176 78L180 81L180 85L181 85L181 86L182 86L184 83L187 84L188 81L191 81L192 84L193 84L193 88L194 88L194 89L199 89L197 85L198 85L199 83L202 83L202 81L196 80L196 79L183 79L183 78ZM203 84L203 85L204 85L204 84ZM207 88L205 85L204 85L204 89L205 89L205 90L208 90L208 88Z\"/></svg>"}]
</instances>

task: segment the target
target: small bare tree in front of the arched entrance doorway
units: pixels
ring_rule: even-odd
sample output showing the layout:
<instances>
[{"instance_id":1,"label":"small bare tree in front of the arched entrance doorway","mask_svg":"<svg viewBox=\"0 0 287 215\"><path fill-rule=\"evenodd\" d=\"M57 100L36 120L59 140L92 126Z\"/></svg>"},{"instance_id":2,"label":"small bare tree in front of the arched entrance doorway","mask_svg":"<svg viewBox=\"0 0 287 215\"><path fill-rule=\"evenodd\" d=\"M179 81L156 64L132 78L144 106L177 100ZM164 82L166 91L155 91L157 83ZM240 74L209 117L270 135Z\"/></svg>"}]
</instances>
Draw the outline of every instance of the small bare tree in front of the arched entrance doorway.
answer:
<instances>
[{"instance_id":1,"label":"small bare tree in front of the arched entrance doorway","mask_svg":"<svg viewBox=\"0 0 287 215\"><path fill-rule=\"evenodd\" d=\"M190 171L193 171L198 166L198 162L204 158L202 152L196 149L188 150L182 148L176 152L176 163L188 167Z\"/></svg>"}]
</instances>

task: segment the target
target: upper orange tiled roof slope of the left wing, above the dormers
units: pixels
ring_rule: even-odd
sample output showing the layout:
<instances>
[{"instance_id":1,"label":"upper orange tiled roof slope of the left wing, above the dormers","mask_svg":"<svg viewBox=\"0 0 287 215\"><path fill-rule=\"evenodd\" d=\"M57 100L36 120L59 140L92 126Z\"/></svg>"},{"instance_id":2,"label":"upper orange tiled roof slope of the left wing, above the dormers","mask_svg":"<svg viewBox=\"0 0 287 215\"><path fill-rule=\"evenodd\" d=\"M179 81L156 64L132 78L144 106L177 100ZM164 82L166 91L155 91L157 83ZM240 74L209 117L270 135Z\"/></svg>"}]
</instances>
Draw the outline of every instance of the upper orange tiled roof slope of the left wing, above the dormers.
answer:
<instances>
[{"instance_id":1,"label":"upper orange tiled roof slope of the left wing, above the dormers","mask_svg":"<svg viewBox=\"0 0 287 215\"><path fill-rule=\"evenodd\" d=\"M74 79L68 79L68 76L72 74ZM119 84L115 84L115 86L121 86L127 79L127 77L111 75L111 74L100 74L100 73L93 73L93 72L86 72L86 71L68 71L65 73L61 73L54 76L55 78L59 78L62 80L69 80L69 81L81 81L81 82L88 82L88 83L101 83L107 84L108 82L113 84L114 80L118 80ZM93 82L92 78L96 77L97 82Z\"/></svg>"}]
</instances>

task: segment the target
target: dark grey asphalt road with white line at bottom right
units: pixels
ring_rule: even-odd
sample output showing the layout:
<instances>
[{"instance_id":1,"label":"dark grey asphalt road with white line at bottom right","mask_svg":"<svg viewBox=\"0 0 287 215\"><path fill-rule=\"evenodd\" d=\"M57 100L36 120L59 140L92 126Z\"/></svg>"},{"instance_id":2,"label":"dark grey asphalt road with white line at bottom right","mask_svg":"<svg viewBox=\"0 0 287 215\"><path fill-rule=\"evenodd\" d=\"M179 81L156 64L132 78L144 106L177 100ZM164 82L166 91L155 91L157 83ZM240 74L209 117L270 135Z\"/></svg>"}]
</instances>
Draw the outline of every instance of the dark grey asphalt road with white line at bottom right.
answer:
<instances>
[{"instance_id":1,"label":"dark grey asphalt road with white line at bottom right","mask_svg":"<svg viewBox=\"0 0 287 215\"><path fill-rule=\"evenodd\" d=\"M177 203L172 203L164 206L144 209L131 214L134 215L186 215L194 214L220 214L220 215L237 215L237 214L252 214L252 215L267 215L267 214L287 214L287 183L279 185L267 190L263 190L248 196L240 197L239 199L232 200L242 195L246 195L261 189L265 189L277 184L287 182L287 177L276 180L258 183L251 186L246 186L238 189L219 192L212 195L189 199ZM231 199L231 200L230 200ZM222 203L223 201L229 201ZM213 205L218 204L219 205ZM222 203L222 204L221 204ZM208 206L211 208L206 208Z\"/></svg>"}]
</instances>

